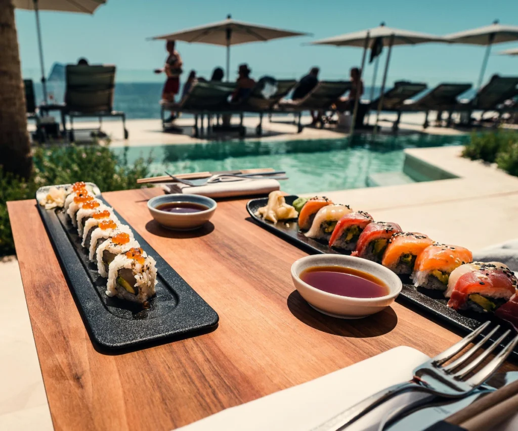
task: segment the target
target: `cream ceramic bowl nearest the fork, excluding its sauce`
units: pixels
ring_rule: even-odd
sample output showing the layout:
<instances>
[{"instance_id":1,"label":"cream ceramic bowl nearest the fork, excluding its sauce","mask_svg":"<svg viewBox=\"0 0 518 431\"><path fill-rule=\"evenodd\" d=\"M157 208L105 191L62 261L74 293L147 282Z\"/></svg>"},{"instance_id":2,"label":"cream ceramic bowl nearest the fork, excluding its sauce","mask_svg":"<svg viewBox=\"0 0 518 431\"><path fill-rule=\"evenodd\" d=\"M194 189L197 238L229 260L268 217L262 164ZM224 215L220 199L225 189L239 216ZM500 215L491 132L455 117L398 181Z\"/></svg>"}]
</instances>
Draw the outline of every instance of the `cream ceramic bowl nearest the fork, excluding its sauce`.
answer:
<instances>
[{"instance_id":1,"label":"cream ceramic bowl nearest the fork, excluding its sauce","mask_svg":"<svg viewBox=\"0 0 518 431\"><path fill-rule=\"evenodd\" d=\"M380 298L350 298L327 293L308 285L300 279L300 273L312 266L347 266L378 277L389 287L389 294ZM370 260L343 255L306 256L295 261L291 268L293 284L300 295L320 313L340 319L361 319L378 313L391 305L402 289L399 277L391 270Z\"/></svg>"}]
</instances>

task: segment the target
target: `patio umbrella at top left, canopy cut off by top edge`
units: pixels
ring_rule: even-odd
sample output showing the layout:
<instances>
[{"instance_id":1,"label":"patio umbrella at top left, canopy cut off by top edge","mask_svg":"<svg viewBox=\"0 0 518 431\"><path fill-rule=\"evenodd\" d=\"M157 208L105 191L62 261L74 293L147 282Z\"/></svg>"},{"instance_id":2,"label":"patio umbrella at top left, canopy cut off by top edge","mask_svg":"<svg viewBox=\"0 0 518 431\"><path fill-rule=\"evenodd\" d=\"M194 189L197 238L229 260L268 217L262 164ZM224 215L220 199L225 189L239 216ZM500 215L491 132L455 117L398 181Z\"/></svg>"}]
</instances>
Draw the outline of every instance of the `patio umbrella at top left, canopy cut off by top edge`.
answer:
<instances>
[{"instance_id":1,"label":"patio umbrella at top left, canopy cut off by top edge","mask_svg":"<svg viewBox=\"0 0 518 431\"><path fill-rule=\"evenodd\" d=\"M12 5L18 9L34 10L36 15L36 31L38 34L39 66L41 68L41 84L43 98L47 103L47 84L45 66L43 62L43 48L41 44L41 28L39 25L40 10L54 10L61 12L94 13L107 0L12 0Z\"/></svg>"}]
</instances>

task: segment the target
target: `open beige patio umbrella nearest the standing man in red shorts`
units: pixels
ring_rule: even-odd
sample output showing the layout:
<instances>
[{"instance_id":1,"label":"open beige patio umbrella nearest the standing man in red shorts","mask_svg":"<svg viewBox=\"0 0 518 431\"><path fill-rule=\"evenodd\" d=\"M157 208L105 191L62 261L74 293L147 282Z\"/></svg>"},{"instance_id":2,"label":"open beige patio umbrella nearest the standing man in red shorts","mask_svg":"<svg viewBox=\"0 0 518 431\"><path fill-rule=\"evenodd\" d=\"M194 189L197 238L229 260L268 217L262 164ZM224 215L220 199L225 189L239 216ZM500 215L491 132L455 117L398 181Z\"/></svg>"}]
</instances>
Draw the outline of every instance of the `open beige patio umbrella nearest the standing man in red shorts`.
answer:
<instances>
[{"instance_id":1,"label":"open beige patio umbrella nearest the standing man in red shorts","mask_svg":"<svg viewBox=\"0 0 518 431\"><path fill-rule=\"evenodd\" d=\"M266 42L292 36L310 36L310 34L236 21L232 19L231 15L228 15L224 21L188 28L167 35L154 36L151 39L181 40L182 42L209 43L226 47L226 76L228 81L230 47L232 45L257 41Z\"/></svg>"}]
</instances>

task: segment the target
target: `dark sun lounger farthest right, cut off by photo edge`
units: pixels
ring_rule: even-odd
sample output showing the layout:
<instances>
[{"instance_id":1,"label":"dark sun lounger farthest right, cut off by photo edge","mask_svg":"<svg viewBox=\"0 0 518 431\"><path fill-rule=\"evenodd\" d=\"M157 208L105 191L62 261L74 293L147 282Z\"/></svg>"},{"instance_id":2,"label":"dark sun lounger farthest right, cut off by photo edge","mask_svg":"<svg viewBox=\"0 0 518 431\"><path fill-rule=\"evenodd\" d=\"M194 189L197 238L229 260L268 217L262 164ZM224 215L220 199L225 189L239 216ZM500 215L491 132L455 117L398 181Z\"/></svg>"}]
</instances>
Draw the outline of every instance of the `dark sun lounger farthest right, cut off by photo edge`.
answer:
<instances>
[{"instance_id":1,"label":"dark sun lounger farthest right, cut off by photo edge","mask_svg":"<svg viewBox=\"0 0 518 431\"><path fill-rule=\"evenodd\" d=\"M506 100L518 95L518 77L500 77L494 75L491 80L484 85L472 100L467 103L457 105L457 112L464 112L467 115L463 123L471 124L471 112L496 111L499 115L510 110L504 105Z\"/></svg>"}]
</instances>

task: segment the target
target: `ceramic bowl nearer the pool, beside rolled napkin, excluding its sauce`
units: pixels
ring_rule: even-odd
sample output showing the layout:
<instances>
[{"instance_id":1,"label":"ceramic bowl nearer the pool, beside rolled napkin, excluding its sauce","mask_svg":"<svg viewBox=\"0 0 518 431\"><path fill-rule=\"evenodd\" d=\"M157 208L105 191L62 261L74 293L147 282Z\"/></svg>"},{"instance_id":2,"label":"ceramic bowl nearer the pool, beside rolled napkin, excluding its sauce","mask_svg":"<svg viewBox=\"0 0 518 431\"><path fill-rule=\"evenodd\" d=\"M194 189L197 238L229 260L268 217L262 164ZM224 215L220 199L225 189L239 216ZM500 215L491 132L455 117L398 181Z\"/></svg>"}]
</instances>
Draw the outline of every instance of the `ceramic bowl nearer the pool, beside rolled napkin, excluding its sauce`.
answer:
<instances>
[{"instance_id":1,"label":"ceramic bowl nearer the pool, beside rolled napkin, excluding its sauce","mask_svg":"<svg viewBox=\"0 0 518 431\"><path fill-rule=\"evenodd\" d=\"M170 202L192 202L207 206L207 210L197 213L170 213L157 210L156 207ZM163 227L172 230L193 230L210 220L218 204L215 200L200 195L172 194L155 196L148 201L148 210L153 218Z\"/></svg>"}]
</instances>

